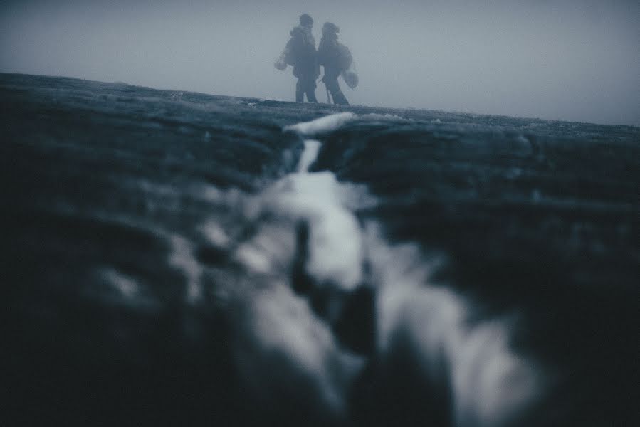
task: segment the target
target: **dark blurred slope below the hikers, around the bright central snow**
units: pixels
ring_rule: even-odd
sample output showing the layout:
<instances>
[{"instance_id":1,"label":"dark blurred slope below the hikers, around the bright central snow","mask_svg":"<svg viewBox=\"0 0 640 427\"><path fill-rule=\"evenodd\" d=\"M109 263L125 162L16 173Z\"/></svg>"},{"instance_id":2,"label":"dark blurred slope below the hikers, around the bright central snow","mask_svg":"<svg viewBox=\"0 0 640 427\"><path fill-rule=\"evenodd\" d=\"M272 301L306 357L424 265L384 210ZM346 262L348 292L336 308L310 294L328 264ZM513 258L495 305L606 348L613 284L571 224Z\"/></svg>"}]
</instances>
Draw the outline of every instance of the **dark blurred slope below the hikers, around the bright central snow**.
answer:
<instances>
[{"instance_id":1,"label":"dark blurred slope below the hikers, around the bright central snow","mask_svg":"<svg viewBox=\"0 0 640 427\"><path fill-rule=\"evenodd\" d=\"M9 74L0 109L2 425L636 421L637 127ZM339 127L283 131L346 111ZM345 202L364 236L355 287L314 273L314 214L270 190L305 137L322 143L310 172L376 200ZM446 288L463 301L461 342L508 325L541 384L526 404L492 401L508 414L492 418L476 409L483 389L461 397L456 352L445 337L431 362L419 312L382 331L385 272L403 257L382 263L375 245L419 254L399 286L434 263L404 307ZM292 323L309 326L288 335ZM473 360L469 377L493 375Z\"/></svg>"}]
</instances>

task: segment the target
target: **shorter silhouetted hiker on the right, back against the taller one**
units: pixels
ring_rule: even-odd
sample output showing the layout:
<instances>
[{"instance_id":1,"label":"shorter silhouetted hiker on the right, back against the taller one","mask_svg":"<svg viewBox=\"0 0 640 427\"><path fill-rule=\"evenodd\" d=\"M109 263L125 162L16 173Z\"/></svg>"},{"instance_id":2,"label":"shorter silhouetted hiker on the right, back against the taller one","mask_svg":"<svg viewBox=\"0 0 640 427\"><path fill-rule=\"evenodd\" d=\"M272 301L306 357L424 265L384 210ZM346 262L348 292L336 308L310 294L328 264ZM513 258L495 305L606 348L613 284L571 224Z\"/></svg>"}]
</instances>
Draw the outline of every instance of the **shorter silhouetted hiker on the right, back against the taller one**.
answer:
<instances>
[{"instance_id":1,"label":"shorter silhouetted hiker on the right, back against the taller one","mask_svg":"<svg viewBox=\"0 0 640 427\"><path fill-rule=\"evenodd\" d=\"M327 90L331 93L333 103L349 105L347 97L340 90L337 78L340 73L351 66L353 58L347 46L338 43L337 33L339 32L340 28L335 23L325 22L322 26L322 39L318 46L318 63L325 70L321 81L325 83Z\"/></svg>"}]
</instances>

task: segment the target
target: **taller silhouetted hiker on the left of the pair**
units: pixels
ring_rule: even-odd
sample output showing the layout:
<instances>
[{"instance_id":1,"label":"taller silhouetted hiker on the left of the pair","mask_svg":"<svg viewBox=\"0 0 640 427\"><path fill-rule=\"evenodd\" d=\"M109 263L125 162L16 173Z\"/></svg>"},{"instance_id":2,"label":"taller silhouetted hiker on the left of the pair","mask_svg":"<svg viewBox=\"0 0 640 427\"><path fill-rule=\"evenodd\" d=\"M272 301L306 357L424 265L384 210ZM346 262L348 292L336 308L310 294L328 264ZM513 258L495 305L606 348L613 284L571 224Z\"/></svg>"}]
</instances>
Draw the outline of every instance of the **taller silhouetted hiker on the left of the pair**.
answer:
<instances>
[{"instance_id":1,"label":"taller silhouetted hiker on the left of the pair","mask_svg":"<svg viewBox=\"0 0 640 427\"><path fill-rule=\"evenodd\" d=\"M315 38L311 33L313 19L308 14L300 15L300 26L291 30L291 39L285 48L285 60L293 65L293 75L298 78L295 85L295 102L318 102L315 98L315 80L320 75Z\"/></svg>"}]
</instances>

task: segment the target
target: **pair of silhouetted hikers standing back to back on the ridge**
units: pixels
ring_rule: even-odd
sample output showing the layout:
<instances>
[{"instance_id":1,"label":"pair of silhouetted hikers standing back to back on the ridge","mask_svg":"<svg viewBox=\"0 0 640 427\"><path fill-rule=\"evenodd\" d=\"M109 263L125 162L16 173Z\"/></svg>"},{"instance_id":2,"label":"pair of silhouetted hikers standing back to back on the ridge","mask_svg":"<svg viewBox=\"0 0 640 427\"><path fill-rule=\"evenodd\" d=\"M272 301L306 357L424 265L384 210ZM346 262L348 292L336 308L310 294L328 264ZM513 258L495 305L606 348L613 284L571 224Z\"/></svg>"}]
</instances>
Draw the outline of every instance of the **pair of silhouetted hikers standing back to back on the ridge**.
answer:
<instances>
[{"instance_id":1,"label":"pair of silhouetted hikers standing back to back on the ridge","mask_svg":"<svg viewBox=\"0 0 640 427\"><path fill-rule=\"evenodd\" d=\"M357 75L353 71L347 71L352 64L352 56L349 49L337 41L340 28L335 23L325 22L318 51L315 50L312 28L311 16L301 15L300 25L290 31L291 38L280 58L276 60L275 66L278 70L284 70L287 65L293 65L293 75L298 78L295 85L295 102L304 102L305 95L308 102L318 102L315 97L315 82L320 77L322 65L325 75L321 81L325 83L333 102L349 105L347 97L340 90L337 78L342 73L347 84L355 88Z\"/></svg>"}]
</instances>

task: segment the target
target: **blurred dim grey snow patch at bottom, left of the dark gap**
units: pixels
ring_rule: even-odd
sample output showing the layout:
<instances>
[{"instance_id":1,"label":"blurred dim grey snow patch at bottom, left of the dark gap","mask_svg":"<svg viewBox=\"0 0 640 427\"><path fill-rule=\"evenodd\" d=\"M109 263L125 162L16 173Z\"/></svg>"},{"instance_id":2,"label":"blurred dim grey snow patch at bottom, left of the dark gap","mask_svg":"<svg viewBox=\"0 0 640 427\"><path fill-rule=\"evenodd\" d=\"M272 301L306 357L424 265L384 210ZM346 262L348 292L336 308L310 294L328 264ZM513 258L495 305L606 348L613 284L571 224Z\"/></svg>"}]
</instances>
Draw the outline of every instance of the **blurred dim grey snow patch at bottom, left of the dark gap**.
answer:
<instances>
[{"instance_id":1,"label":"blurred dim grey snow patch at bottom, left of the dark gap","mask_svg":"<svg viewBox=\"0 0 640 427\"><path fill-rule=\"evenodd\" d=\"M329 423L346 416L348 385L362 360L343 353L332 332L286 283L252 292L239 307L235 361L266 406L283 400ZM278 374L273 374L277 372Z\"/></svg>"}]
</instances>

